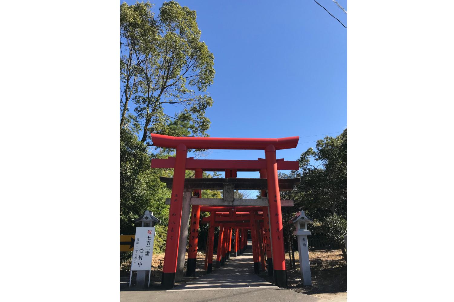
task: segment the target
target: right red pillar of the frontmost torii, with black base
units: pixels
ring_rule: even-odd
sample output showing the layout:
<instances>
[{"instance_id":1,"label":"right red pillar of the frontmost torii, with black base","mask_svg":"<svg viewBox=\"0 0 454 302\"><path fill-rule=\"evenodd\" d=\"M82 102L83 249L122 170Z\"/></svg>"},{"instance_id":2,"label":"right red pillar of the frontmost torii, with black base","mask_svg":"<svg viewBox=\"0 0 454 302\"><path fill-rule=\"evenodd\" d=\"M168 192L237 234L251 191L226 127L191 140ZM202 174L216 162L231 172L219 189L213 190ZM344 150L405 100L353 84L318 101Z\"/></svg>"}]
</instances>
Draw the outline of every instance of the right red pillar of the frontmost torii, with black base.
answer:
<instances>
[{"instance_id":1,"label":"right red pillar of the frontmost torii, with black base","mask_svg":"<svg viewBox=\"0 0 454 302\"><path fill-rule=\"evenodd\" d=\"M266 180L268 185L268 205L270 207L270 235L272 241L274 284L287 288L285 268L284 233L282 230L281 196L277 181L276 148L269 145L265 149Z\"/></svg>"}]
</instances>

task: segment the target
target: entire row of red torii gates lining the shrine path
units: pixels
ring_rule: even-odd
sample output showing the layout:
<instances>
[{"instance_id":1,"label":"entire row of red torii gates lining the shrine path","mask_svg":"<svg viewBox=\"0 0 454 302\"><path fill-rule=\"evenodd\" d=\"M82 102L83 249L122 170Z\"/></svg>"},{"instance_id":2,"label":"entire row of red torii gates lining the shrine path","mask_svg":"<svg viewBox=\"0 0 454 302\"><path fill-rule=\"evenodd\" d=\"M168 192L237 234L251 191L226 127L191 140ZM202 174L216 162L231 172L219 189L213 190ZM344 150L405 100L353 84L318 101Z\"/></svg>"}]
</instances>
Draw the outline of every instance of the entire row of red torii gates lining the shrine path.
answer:
<instances>
[{"instance_id":1,"label":"entire row of red torii gates lining the shrine path","mask_svg":"<svg viewBox=\"0 0 454 302\"><path fill-rule=\"evenodd\" d=\"M291 190L300 181L278 179L278 170L297 170L297 161L276 159L276 150L296 148L299 137L279 139L173 137L151 134L155 147L176 149L175 157L152 159L152 168L173 168L173 178L161 177L172 189L162 287L173 288L183 275L188 227L188 276L195 273L200 212L210 212L202 223L209 223L205 269L212 270L214 228L219 227L218 265L230 257L232 235L236 256L247 246L251 232L254 272L267 270L276 286L287 287L281 206L293 201L281 200L280 190ZM265 158L257 160L214 160L188 158L188 149L252 149L264 150ZM186 170L194 170L195 178L186 178ZM202 178L203 171L224 171L225 178ZM237 178L240 171L259 171L260 178ZM222 198L200 198L201 190L223 190ZM235 190L258 190L262 199L234 198ZM190 212L190 206L192 211ZM189 215L190 214L190 215ZM189 220L190 216L190 221ZM189 224L188 224L189 222ZM266 259L266 260L265 260Z\"/></svg>"}]
</instances>

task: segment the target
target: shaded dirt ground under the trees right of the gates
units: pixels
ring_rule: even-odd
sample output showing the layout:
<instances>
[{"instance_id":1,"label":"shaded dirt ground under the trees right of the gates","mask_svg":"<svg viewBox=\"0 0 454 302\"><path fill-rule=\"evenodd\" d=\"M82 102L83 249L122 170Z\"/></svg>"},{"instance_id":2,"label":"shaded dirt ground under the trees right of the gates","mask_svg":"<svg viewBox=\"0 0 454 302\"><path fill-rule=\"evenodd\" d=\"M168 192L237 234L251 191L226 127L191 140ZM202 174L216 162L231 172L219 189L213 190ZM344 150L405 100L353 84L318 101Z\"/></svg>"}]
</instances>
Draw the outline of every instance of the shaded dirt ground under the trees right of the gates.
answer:
<instances>
[{"instance_id":1,"label":"shaded dirt ground under the trees right of the gates","mask_svg":"<svg viewBox=\"0 0 454 302\"><path fill-rule=\"evenodd\" d=\"M327 293L347 291L347 263L341 249L318 249L309 251L311 263L312 286L301 284L300 261L298 252L295 252L295 267L291 268L289 254L286 254L287 283L289 288L296 292L308 295L322 296ZM268 280L268 273L260 273Z\"/></svg>"}]
</instances>

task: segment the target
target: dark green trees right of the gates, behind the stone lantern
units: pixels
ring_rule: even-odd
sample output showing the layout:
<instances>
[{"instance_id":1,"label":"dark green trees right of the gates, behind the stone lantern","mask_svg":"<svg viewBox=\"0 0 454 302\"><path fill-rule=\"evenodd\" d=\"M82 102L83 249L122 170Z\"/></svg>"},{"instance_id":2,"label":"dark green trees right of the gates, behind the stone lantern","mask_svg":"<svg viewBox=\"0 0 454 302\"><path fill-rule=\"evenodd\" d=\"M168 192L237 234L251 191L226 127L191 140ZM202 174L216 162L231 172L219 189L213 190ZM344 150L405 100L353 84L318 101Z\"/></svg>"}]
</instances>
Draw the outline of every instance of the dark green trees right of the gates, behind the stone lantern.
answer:
<instances>
[{"instance_id":1,"label":"dark green trees right of the gates, behind the stone lantern","mask_svg":"<svg viewBox=\"0 0 454 302\"><path fill-rule=\"evenodd\" d=\"M282 211L282 220L288 221L297 211L304 210L314 219L308 227L313 235L334 242L343 248L343 234L347 218L347 129L336 137L326 136L299 158L300 170L279 173L279 178L301 177L291 191L281 191L281 199L295 201L291 211ZM294 225L284 224L284 236L292 241ZM288 249L290 253L290 249Z\"/></svg>"}]
</instances>

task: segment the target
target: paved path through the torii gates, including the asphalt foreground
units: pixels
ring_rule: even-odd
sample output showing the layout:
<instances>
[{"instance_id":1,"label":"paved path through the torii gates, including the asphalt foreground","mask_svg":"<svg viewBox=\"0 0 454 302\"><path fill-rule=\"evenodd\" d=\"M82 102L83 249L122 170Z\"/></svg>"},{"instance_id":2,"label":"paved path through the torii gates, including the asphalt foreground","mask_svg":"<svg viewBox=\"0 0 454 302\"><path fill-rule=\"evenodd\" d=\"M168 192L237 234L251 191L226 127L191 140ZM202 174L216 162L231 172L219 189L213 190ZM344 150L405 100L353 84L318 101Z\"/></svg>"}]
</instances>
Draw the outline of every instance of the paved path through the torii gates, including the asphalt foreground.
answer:
<instances>
[{"instance_id":1,"label":"paved path through the torii gates, including the asphalt foreground","mask_svg":"<svg viewBox=\"0 0 454 302\"><path fill-rule=\"evenodd\" d=\"M215 261L214 261L215 262ZM216 263L216 262L215 262ZM329 301L283 289L254 274L252 251L230 260L221 268L167 291L123 291L122 302L276 302Z\"/></svg>"}]
</instances>

